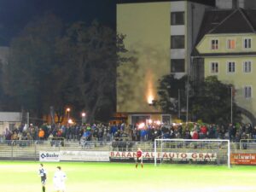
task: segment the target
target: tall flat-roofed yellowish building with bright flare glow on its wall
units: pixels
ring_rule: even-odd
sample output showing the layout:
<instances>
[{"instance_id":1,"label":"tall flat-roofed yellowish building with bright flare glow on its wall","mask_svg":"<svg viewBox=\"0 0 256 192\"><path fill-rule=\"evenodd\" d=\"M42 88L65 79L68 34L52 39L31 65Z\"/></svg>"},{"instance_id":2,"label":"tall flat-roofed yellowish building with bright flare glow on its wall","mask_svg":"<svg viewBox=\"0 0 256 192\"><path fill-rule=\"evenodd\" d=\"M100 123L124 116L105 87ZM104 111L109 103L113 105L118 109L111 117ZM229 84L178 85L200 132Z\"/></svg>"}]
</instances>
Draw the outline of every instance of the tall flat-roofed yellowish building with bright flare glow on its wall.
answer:
<instances>
[{"instance_id":1,"label":"tall flat-roofed yellowish building with bright flare glow on its wall","mask_svg":"<svg viewBox=\"0 0 256 192\"><path fill-rule=\"evenodd\" d=\"M125 34L127 55L136 58L118 68L117 113L129 124L145 119L170 122L171 115L154 108L159 79L190 71L190 54L204 11L215 1L151 1L118 3L117 32Z\"/></svg>"}]
</instances>

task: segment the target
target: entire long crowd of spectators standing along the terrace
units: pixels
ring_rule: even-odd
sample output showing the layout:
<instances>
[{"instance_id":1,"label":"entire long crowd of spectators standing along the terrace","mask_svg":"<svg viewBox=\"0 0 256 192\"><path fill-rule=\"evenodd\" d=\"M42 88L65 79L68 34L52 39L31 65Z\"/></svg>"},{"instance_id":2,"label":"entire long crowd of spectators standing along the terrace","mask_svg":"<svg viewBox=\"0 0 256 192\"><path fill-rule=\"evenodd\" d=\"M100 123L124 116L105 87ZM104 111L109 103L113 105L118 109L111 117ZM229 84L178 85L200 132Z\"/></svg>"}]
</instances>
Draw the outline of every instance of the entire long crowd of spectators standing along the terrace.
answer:
<instances>
[{"instance_id":1,"label":"entire long crowd of spectators standing along the terrace","mask_svg":"<svg viewBox=\"0 0 256 192\"><path fill-rule=\"evenodd\" d=\"M44 141L63 138L66 141L154 141L155 138L184 139L230 139L239 143L241 139L256 139L256 126L250 124L206 125L206 124L172 124L172 125L20 125L10 131L5 130L5 140Z\"/></svg>"}]
</instances>

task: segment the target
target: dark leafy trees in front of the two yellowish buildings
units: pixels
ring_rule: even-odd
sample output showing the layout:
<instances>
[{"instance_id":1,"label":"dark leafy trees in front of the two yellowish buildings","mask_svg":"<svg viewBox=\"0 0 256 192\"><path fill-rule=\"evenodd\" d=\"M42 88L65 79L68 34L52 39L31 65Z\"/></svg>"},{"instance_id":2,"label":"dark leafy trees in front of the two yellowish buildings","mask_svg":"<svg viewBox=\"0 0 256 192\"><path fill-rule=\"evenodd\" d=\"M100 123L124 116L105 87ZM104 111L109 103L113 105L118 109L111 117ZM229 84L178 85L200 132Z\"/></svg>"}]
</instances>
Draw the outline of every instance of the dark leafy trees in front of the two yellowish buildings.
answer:
<instances>
[{"instance_id":1,"label":"dark leafy trees in front of the two yellowish buildings","mask_svg":"<svg viewBox=\"0 0 256 192\"><path fill-rule=\"evenodd\" d=\"M176 116L180 110L184 116L187 110L187 94L189 94L189 120L200 119L206 123L229 124L231 86L232 84L223 84L216 76L210 76L204 81L195 83L188 81L186 76L182 79L175 79L174 75L170 74L160 79L158 87L160 99L154 101L154 105L160 106L165 113ZM234 96L232 97L233 121L241 122L241 112L236 106Z\"/></svg>"}]
</instances>

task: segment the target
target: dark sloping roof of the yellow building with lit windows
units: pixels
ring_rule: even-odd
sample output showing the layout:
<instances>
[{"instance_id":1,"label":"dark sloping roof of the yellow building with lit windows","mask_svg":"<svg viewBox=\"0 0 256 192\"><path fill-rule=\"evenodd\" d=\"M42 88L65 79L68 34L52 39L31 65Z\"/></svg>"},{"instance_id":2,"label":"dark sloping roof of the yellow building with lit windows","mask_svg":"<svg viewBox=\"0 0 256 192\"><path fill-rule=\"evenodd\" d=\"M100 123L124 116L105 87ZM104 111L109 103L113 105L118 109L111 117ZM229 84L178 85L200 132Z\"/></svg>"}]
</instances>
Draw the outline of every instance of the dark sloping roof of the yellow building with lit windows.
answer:
<instances>
[{"instance_id":1,"label":"dark sloping roof of the yellow building with lit windows","mask_svg":"<svg viewBox=\"0 0 256 192\"><path fill-rule=\"evenodd\" d=\"M256 9L209 9L203 17L196 43L207 34L237 34L256 32ZM238 53L239 54L239 53ZM194 49L192 55L200 55ZM219 55L215 53L213 55Z\"/></svg>"}]
</instances>

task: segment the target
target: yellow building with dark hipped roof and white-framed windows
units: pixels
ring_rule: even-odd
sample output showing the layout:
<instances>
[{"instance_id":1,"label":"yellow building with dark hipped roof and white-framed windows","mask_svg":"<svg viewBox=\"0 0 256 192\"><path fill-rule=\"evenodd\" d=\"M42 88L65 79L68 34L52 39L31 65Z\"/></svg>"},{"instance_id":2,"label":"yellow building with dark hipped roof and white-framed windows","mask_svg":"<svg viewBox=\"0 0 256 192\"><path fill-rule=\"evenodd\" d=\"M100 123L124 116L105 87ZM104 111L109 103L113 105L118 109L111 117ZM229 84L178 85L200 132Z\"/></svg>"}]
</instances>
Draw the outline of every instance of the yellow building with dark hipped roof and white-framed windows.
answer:
<instances>
[{"instance_id":1,"label":"yellow building with dark hipped roof and white-framed windows","mask_svg":"<svg viewBox=\"0 0 256 192\"><path fill-rule=\"evenodd\" d=\"M245 122L256 117L256 10L213 9L204 15L195 58L203 60L204 77L215 75L236 89L235 101ZM197 63L197 65L200 65Z\"/></svg>"}]
</instances>

